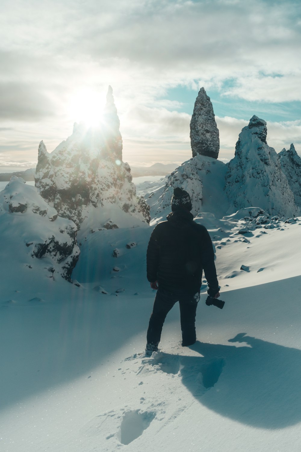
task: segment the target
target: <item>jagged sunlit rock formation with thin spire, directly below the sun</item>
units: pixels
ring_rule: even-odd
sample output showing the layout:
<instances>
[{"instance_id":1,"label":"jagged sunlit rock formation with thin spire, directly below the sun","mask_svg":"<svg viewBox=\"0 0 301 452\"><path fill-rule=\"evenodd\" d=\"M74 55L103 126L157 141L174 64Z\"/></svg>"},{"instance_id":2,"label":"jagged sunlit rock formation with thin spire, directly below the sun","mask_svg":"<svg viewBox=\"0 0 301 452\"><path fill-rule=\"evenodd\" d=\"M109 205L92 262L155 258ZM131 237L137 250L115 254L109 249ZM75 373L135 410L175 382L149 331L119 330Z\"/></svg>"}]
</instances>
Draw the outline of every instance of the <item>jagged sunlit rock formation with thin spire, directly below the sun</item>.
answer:
<instances>
[{"instance_id":1,"label":"jagged sunlit rock formation with thin spire, directly below the sun","mask_svg":"<svg viewBox=\"0 0 301 452\"><path fill-rule=\"evenodd\" d=\"M41 141L35 185L61 217L77 226L85 219L90 227L101 228L109 221L118 226L118 221L119 225L123 221L120 212L131 216L132 222L149 223L149 207L144 198L136 196L130 166L122 162L122 138L111 86L104 117L98 128L86 129L75 123L72 135L51 154Z\"/></svg>"}]
</instances>

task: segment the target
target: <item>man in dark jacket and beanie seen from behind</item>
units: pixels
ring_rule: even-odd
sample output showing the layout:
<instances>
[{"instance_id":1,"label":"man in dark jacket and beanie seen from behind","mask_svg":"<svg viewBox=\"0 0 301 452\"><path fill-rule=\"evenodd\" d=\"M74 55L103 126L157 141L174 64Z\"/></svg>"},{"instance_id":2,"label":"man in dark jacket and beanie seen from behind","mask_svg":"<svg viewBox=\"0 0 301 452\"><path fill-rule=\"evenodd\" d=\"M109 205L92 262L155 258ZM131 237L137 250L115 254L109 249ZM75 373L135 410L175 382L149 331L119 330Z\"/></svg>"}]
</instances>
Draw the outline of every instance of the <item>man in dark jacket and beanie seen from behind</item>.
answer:
<instances>
[{"instance_id":1,"label":"man in dark jacket and beanie seen from behind","mask_svg":"<svg viewBox=\"0 0 301 452\"><path fill-rule=\"evenodd\" d=\"M146 353L157 351L168 311L179 301L182 346L194 344L195 314L204 268L208 295L219 297L212 241L207 229L193 221L190 195L175 188L167 221L154 228L147 250L147 278L157 290L149 319Z\"/></svg>"}]
</instances>

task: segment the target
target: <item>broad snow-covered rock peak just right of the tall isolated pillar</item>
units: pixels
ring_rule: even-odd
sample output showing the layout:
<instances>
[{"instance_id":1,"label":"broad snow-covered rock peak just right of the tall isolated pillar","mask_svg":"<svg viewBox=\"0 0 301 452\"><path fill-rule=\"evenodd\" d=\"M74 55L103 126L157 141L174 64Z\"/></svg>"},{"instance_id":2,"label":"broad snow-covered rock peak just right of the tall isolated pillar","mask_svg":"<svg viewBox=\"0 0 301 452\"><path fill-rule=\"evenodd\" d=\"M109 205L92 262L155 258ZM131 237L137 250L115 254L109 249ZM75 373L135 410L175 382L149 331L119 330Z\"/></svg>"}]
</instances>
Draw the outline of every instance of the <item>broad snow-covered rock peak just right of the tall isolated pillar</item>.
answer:
<instances>
[{"instance_id":1,"label":"broad snow-covered rock peak just right of the tall isolated pillar","mask_svg":"<svg viewBox=\"0 0 301 452\"><path fill-rule=\"evenodd\" d=\"M228 213L249 206L261 207L269 215L292 217L297 213L278 154L268 146L266 137L266 122L257 116L239 134L225 178Z\"/></svg>"}]
</instances>

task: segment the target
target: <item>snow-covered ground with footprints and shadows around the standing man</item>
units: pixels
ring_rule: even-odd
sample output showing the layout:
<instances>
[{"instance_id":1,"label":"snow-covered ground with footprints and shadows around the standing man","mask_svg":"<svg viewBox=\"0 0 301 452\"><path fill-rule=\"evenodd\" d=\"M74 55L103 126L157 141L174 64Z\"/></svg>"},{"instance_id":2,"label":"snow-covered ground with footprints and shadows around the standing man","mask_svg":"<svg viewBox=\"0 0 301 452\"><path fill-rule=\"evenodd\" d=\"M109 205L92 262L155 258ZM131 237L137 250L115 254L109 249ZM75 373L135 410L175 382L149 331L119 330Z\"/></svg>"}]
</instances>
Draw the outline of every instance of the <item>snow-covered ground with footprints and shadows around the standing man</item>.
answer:
<instances>
[{"instance_id":1,"label":"snow-covered ground with footprints and shadows around the standing man","mask_svg":"<svg viewBox=\"0 0 301 452\"><path fill-rule=\"evenodd\" d=\"M301 221L244 216L196 219L226 304L206 306L204 282L197 343L181 347L175 306L151 358L139 353L152 227L79 232L77 285L20 264L12 229L15 244L1 244L0 450L300 452Z\"/></svg>"}]
</instances>

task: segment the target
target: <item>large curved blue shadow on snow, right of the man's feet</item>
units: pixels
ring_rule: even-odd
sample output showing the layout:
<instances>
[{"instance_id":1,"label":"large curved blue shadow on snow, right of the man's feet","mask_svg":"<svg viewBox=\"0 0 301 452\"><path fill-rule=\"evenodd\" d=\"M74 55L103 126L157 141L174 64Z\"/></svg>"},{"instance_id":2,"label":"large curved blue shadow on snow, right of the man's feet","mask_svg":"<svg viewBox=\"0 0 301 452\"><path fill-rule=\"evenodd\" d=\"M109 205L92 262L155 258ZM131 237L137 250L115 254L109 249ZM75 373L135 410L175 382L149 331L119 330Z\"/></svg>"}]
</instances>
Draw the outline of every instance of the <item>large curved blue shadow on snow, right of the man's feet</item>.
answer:
<instances>
[{"instance_id":1,"label":"large curved blue shadow on snow, right of the man's feet","mask_svg":"<svg viewBox=\"0 0 301 452\"><path fill-rule=\"evenodd\" d=\"M247 346L197 341L190 348L202 357L179 357L187 389L210 410L252 427L276 429L299 423L301 351L244 333L229 342Z\"/></svg>"}]
</instances>

